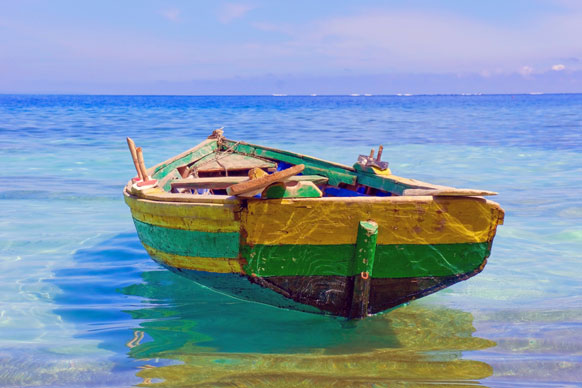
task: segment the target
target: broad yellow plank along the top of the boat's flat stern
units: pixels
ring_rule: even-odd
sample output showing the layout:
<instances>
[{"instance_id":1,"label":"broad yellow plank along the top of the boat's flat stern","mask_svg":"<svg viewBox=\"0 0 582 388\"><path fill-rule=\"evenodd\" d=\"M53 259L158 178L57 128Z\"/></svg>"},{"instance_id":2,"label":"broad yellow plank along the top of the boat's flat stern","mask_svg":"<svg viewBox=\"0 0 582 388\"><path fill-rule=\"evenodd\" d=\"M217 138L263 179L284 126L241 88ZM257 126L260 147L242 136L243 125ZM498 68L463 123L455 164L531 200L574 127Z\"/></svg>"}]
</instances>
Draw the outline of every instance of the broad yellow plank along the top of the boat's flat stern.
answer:
<instances>
[{"instance_id":1,"label":"broad yellow plank along the top of the boat's flat stern","mask_svg":"<svg viewBox=\"0 0 582 388\"><path fill-rule=\"evenodd\" d=\"M264 245L354 244L359 221L370 218L381 227L379 244L478 243L491 239L502 214L479 197L249 200L247 209L247 243Z\"/></svg>"}]
</instances>

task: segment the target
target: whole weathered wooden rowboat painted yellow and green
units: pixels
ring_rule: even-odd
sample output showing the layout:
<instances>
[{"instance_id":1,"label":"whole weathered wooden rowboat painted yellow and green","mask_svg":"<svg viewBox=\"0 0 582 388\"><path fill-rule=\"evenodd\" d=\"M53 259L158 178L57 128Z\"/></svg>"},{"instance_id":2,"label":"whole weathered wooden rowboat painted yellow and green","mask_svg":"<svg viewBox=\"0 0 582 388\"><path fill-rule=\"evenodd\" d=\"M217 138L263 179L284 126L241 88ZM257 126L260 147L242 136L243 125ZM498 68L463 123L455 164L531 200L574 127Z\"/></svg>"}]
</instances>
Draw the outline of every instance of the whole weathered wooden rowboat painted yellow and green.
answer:
<instances>
[{"instance_id":1,"label":"whole weathered wooden rowboat painted yellow and green","mask_svg":"<svg viewBox=\"0 0 582 388\"><path fill-rule=\"evenodd\" d=\"M125 201L151 257L230 296L362 318L479 273L504 211L493 192L228 140L216 130L138 176Z\"/></svg>"}]
</instances>

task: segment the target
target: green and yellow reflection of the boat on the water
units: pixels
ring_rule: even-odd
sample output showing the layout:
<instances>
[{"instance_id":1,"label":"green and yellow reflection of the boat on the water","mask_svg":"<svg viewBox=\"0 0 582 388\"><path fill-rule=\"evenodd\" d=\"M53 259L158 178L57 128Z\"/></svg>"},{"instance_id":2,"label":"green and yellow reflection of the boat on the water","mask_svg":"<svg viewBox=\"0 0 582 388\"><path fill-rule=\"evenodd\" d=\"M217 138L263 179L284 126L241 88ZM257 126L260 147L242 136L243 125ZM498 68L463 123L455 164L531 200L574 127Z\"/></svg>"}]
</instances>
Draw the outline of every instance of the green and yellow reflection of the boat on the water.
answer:
<instances>
[{"instance_id":1,"label":"green and yellow reflection of the boat on the water","mask_svg":"<svg viewBox=\"0 0 582 388\"><path fill-rule=\"evenodd\" d=\"M169 271L142 274L124 294L149 303L129 355L159 386L474 386L492 368L463 351L495 343L473 337L471 314L415 303L363 321L238 301ZM156 367L156 360L179 364Z\"/></svg>"}]
</instances>

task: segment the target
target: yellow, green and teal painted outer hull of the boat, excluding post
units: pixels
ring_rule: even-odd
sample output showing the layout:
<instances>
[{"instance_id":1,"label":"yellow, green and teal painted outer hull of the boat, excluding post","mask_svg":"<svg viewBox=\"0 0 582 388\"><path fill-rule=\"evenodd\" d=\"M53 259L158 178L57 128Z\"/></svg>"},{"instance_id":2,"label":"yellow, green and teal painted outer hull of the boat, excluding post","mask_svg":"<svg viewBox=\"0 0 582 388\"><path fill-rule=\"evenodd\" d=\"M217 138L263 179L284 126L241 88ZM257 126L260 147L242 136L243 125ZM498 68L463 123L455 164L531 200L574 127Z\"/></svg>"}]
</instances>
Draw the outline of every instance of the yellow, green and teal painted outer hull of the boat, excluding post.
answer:
<instances>
[{"instance_id":1,"label":"yellow, green and teal painted outer hull of the boat, excluding post","mask_svg":"<svg viewBox=\"0 0 582 388\"><path fill-rule=\"evenodd\" d=\"M363 276L360 222L378 225L366 316L480 272L503 220L475 197L125 198L148 253L176 273L241 299L345 317Z\"/></svg>"}]
</instances>

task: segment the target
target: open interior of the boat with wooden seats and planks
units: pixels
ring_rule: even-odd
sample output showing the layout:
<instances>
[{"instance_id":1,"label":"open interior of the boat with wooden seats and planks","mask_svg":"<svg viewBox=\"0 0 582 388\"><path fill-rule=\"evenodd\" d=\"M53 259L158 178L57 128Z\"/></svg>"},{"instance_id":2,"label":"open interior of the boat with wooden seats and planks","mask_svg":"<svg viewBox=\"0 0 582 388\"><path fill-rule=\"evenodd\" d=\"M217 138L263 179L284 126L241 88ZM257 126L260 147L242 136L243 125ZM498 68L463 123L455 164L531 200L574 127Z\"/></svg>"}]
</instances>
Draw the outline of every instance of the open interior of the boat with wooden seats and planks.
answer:
<instances>
[{"instance_id":1,"label":"open interior of the boat with wooden seats and planks","mask_svg":"<svg viewBox=\"0 0 582 388\"><path fill-rule=\"evenodd\" d=\"M395 176L382 161L383 147L359 155L353 167L310 156L235 142L216 130L204 142L145 169L141 148L128 138L138 177L136 190L155 187L180 197L320 198L484 196L496 193L433 185ZM137 152L135 152L137 151ZM140 173L141 171L141 173Z\"/></svg>"}]
</instances>

